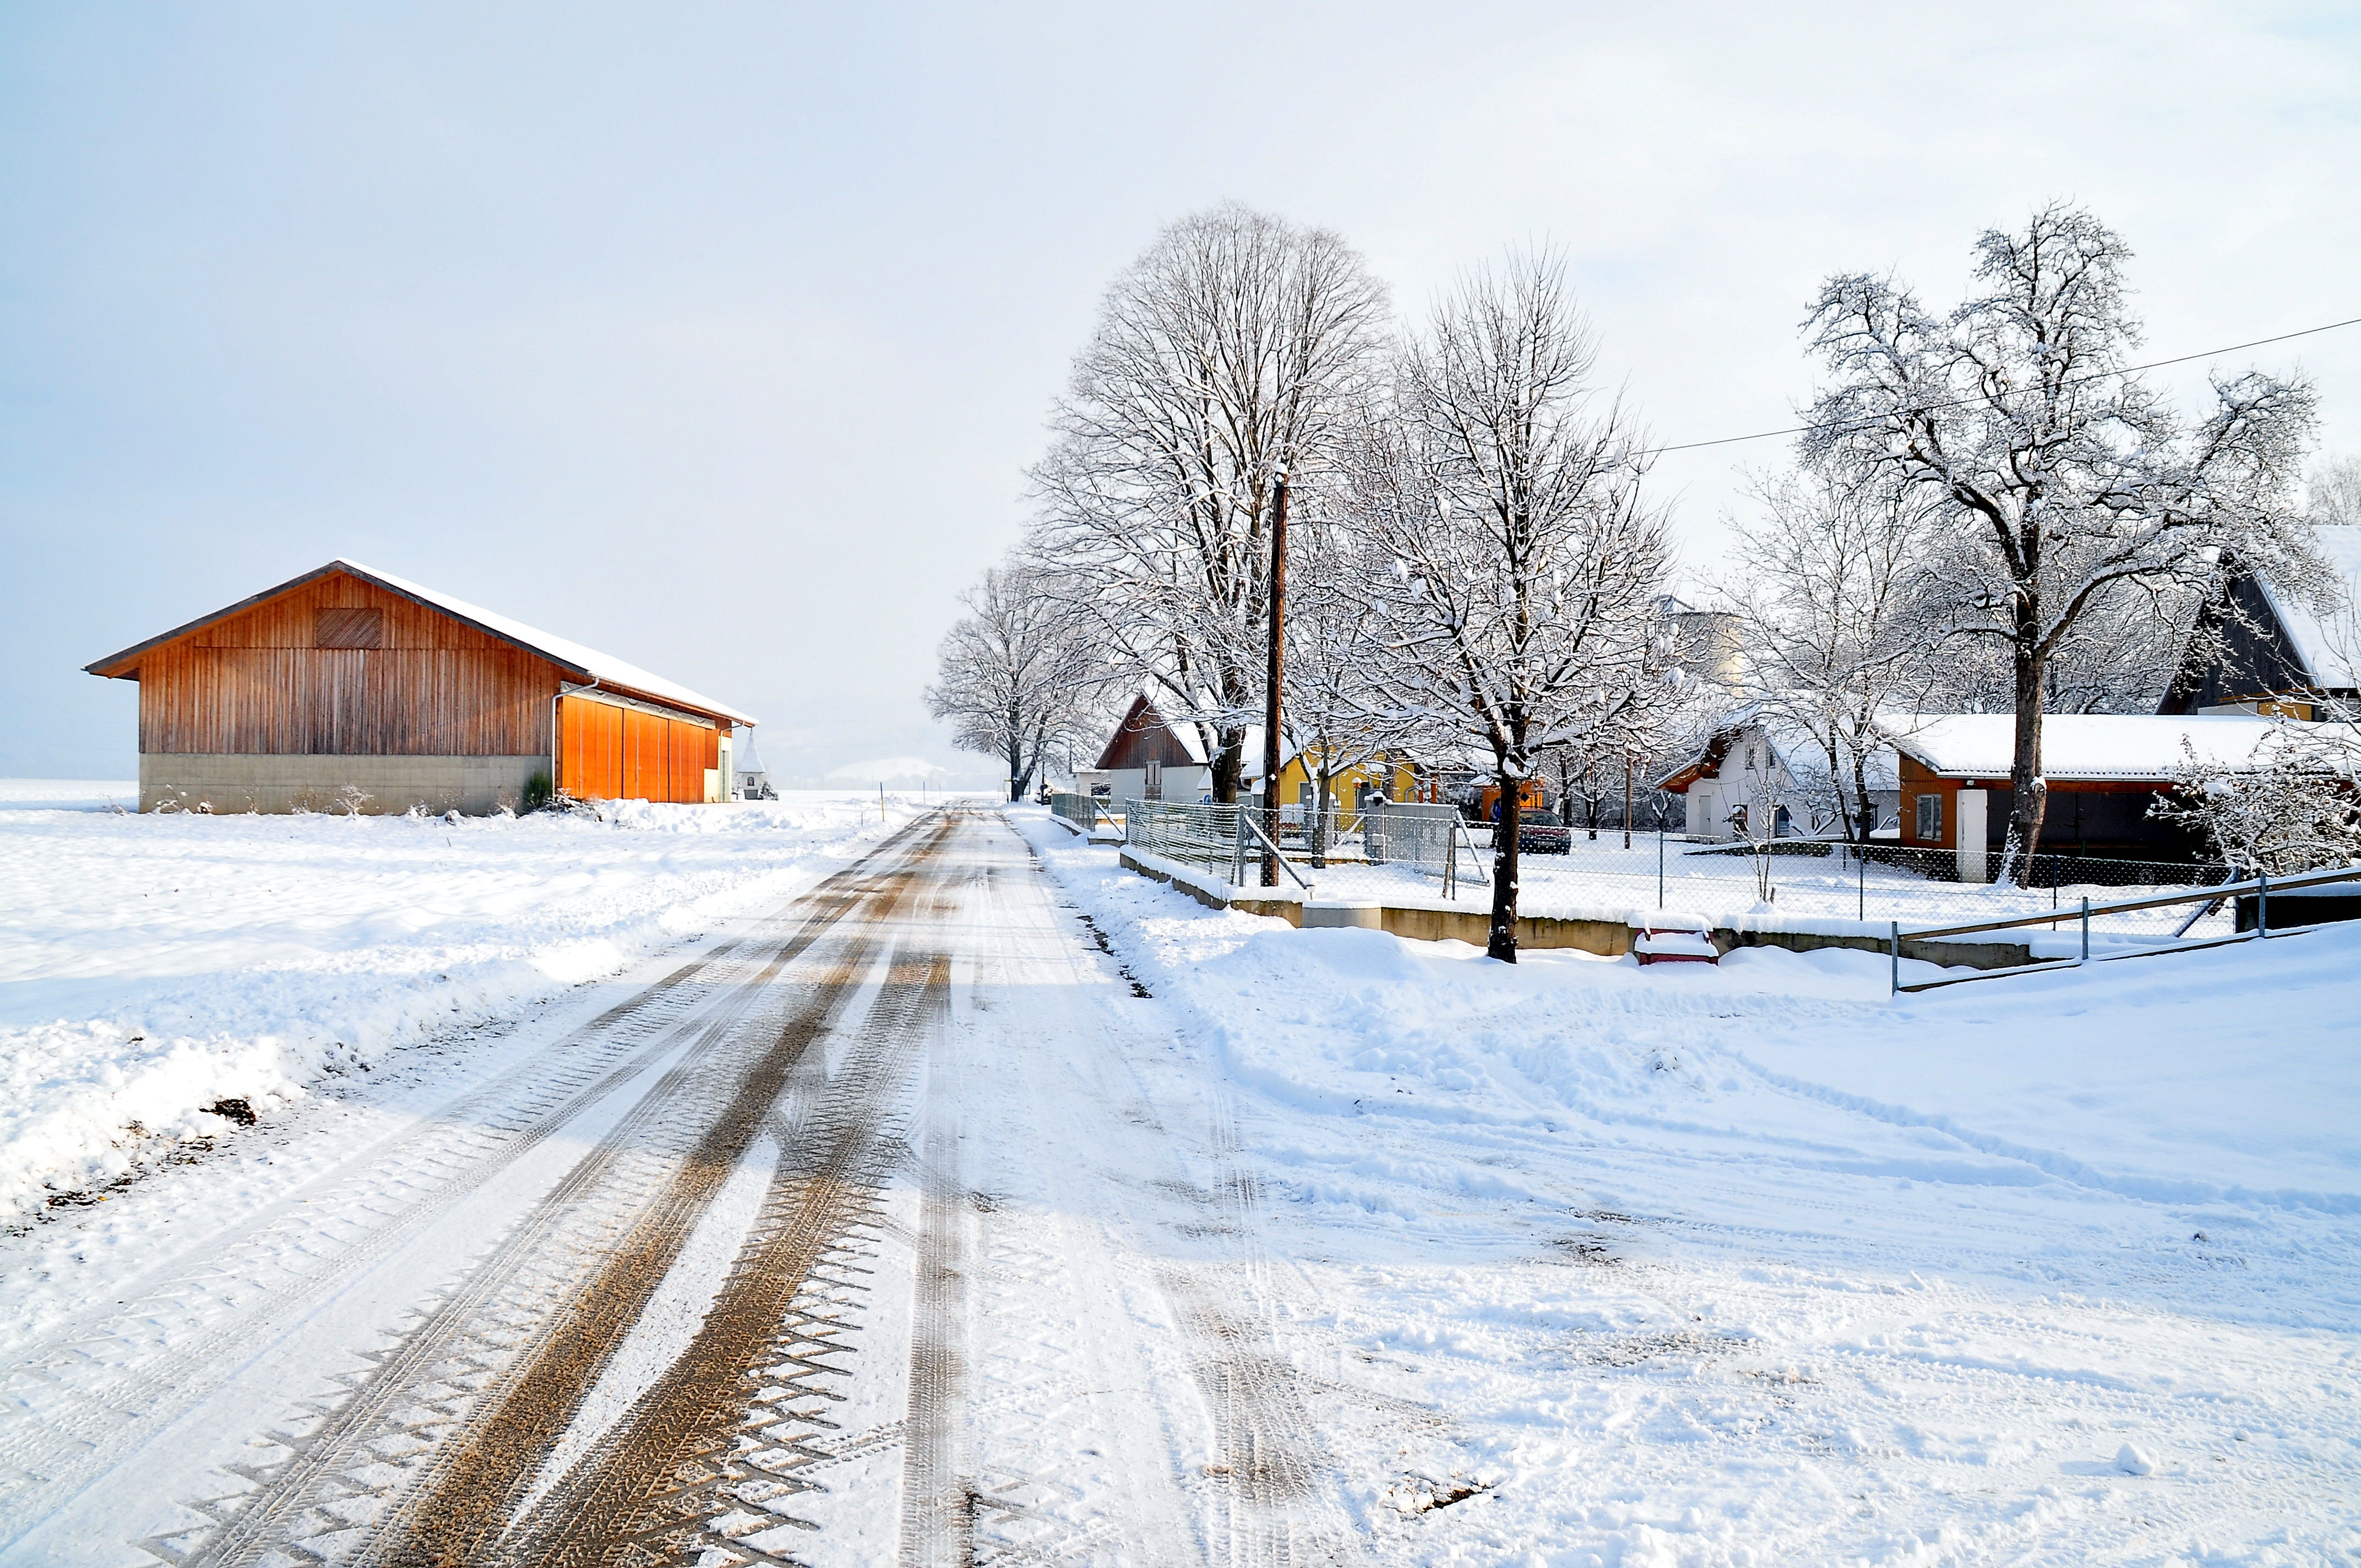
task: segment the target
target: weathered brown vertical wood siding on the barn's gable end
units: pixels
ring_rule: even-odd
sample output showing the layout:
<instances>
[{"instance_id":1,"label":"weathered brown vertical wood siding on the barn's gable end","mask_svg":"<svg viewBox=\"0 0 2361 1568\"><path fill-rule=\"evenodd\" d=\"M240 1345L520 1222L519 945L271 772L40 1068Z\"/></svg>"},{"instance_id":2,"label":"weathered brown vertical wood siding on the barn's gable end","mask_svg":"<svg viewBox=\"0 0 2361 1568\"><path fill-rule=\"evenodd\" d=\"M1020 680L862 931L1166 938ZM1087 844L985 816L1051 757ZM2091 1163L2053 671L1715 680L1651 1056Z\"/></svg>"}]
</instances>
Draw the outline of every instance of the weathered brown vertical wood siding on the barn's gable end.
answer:
<instances>
[{"instance_id":1,"label":"weathered brown vertical wood siding on the barn's gable end","mask_svg":"<svg viewBox=\"0 0 2361 1568\"><path fill-rule=\"evenodd\" d=\"M316 647L323 609L382 614L380 647ZM331 616L345 640L354 616ZM139 749L548 756L560 671L352 576L139 656Z\"/></svg>"}]
</instances>

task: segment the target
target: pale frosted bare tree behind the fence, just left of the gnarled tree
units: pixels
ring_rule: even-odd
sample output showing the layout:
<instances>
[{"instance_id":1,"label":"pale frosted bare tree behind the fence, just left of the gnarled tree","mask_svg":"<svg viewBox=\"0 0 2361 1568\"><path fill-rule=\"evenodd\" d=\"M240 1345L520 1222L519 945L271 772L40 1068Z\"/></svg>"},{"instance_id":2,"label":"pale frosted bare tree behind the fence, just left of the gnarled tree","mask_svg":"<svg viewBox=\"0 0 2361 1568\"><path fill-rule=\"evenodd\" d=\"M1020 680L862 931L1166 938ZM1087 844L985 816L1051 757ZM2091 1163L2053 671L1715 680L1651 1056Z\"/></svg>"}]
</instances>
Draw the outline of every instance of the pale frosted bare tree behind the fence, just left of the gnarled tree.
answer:
<instances>
[{"instance_id":1,"label":"pale frosted bare tree behind the fence, just left of the gnarled tree","mask_svg":"<svg viewBox=\"0 0 2361 1568\"><path fill-rule=\"evenodd\" d=\"M1870 765L1889 716L1931 673L1917 621L1929 505L1879 479L1809 470L1757 479L1754 501L1761 512L1735 527L1724 586L1747 649L1745 697L1811 737L1830 793L1816 805L1860 843L1877 827Z\"/></svg>"}]
</instances>

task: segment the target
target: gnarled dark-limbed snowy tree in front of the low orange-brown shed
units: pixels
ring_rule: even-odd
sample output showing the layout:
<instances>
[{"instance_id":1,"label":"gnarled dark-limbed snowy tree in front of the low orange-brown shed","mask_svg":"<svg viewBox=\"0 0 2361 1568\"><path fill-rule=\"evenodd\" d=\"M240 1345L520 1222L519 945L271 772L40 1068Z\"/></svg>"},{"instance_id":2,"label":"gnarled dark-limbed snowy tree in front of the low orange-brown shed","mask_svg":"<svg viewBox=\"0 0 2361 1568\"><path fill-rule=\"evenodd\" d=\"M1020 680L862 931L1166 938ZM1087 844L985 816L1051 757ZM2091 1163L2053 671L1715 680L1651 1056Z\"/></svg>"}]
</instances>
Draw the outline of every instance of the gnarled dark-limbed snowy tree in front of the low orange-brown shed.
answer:
<instances>
[{"instance_id":1,"label":"gnarled dark-limbed snowy tree in front of the low orange-brown shed","mask_svg":"<svg viewBox=\"0 0 2361 1568\"><path fill-rule=\"evenodd\" d=\"M2040 848L2047 673L2082 616L2141 586L2198 583L2222 550L2276 581L2319 579L2285 503L2309 385L2215 375L2215 409L2184 430L2127 373L2139 345L2127 260L2097 217L2049 205L2019 234L1976 241L1983 293L1948 316L1891 279L1846 274L1823 286L1809 324L1834 385L1811 409L1806 460L1929 498L1943 588L1931 633L2007 652L2004 881Z\"/></svg>"}]
</instances>

